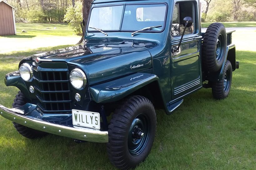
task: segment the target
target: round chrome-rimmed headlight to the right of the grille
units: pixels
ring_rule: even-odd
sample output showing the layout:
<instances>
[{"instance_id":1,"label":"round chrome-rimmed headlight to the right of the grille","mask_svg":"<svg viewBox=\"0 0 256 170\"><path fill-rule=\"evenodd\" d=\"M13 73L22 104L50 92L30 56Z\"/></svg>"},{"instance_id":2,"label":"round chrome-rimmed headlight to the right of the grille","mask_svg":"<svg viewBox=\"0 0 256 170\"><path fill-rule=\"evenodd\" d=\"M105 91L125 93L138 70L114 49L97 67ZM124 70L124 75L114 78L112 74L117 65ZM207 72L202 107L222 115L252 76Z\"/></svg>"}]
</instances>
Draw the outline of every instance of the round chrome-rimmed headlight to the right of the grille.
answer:
<instances>
[{"instance_id":1,"label":"round chrome-rimmed headlight to the right of the grille","mask_svg":"<svg viewBox=\"0 0 256 170\"><path fill-rule=\"evenodd\" d=\"M71 85L78 90L84 88L87 83L84 72L79 68L75 68L71 71L69 79Z\"/></svg>"}]
</instances>

